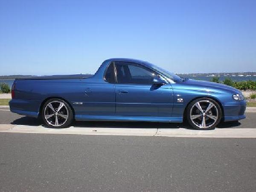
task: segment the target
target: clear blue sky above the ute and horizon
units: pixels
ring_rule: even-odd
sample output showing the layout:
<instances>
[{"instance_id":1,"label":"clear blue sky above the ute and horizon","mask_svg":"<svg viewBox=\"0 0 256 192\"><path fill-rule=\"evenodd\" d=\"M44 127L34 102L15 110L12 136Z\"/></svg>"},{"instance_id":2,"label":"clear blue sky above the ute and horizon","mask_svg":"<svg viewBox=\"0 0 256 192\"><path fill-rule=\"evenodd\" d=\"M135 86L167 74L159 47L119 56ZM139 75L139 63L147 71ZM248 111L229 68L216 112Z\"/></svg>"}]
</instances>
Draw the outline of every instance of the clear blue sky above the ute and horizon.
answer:
<instances>
[{"instance_id":1,"label":"clear blue sky above the ute and horizon","mask_svg":"<svg viewBox=\"0 0 256 192\"><path fill-rule=\"evenodd\" d=\"M137 58L174 73L256 71L255 0L0 0L0 75L94 73Z\"/></svg>"}]
</instances>

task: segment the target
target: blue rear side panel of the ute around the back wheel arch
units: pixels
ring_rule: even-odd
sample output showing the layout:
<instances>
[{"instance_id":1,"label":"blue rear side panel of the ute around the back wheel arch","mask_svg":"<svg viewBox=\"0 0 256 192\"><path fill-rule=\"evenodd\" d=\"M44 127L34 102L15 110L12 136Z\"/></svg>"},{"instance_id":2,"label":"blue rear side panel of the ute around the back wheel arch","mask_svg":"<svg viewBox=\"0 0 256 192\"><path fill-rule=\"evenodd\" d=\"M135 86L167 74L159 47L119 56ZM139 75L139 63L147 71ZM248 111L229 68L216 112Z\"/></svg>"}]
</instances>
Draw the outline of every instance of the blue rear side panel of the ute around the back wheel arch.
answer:
<instances>
[{"instance_id":1,"label":"blue rear side panel of the ute around the back wheel arch","mask_svg":"<svg viewBox=\"0 0 256 192\"><path fill-rule=\"evenodd\" d=\"M91 79L19 80L15 98L10 101L13 112L33 116L47 98L65 99L76 115L114 115L114 85ZM27 113L24 113L27 111Z\"/></svg>"}]
</instances>

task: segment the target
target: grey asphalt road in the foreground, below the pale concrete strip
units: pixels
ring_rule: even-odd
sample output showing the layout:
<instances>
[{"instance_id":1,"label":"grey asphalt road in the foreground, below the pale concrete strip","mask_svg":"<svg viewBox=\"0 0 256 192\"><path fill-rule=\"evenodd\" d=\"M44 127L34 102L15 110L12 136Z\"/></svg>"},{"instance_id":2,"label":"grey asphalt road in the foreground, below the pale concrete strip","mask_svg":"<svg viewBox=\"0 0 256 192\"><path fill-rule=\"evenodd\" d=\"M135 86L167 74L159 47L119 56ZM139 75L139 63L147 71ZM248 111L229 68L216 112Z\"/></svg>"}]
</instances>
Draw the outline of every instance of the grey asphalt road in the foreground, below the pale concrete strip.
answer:
<instances>
[{"instance_id":1,"label":"grey asphalt road in the foreground, below the pale concrete strip","mask_svg":"<svg viewBox=\"0 0 256 192\"><path fill-rule=\"evenodd\" d=\"M0 191L255 191L256 140L0 133Z\"/></svg>"}]
</instances>

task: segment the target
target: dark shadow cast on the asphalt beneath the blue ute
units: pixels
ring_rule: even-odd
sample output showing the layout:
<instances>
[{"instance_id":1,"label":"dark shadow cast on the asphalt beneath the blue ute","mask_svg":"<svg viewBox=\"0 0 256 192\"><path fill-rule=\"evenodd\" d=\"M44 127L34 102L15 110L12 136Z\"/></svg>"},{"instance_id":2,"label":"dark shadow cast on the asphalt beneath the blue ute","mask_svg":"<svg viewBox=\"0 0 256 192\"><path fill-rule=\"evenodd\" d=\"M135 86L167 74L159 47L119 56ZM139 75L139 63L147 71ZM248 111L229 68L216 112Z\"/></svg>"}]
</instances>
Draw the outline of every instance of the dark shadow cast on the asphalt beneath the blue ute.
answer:
<instances>
[{"instance_id":1,"label":"dark shadow cast on the asphalt beneath the blue ute","mask_svg":"<svg viewBox=\"0 0 256 192\"><path fill-rule=\"evenodd\" d=\"M44 122L40 118L23 116L11 122L12 125L39 126ZM241 123L221 122L217 128L239 128ZM44 125L43 125L44 126ZM114 121L74 121L71 126L84 128L185 128L194 129L187 122L183 123L163 123L163 122L114 122Z\"/></svg>"}]
</instances>

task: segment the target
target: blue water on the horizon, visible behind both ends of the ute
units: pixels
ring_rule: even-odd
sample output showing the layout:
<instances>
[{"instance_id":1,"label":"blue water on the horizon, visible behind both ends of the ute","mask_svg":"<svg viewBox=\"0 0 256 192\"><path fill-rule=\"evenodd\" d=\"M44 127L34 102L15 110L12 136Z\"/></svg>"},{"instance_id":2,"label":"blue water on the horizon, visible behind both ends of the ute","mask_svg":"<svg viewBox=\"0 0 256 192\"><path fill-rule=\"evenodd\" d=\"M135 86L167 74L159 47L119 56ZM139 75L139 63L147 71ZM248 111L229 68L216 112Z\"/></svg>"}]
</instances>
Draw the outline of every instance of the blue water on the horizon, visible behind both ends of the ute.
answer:
<instances>
[{"instance_id":1,"label":"blue water on the horizon, visible behind both ends of the ute","mask_svg":"<svg viewBox=\"0 0 256 192\"><path fill-rule=\"evenodd\" d=\"M203 81L211 81L212 80L212 77L207 77L207 76L186 76L186 75L183 75L183 77L186 77L186 78L189 78L189 79L197 79L197 80L203 80ZM225 77L225 76L220 76L220 81L224 81L225 78L230 78L232 79L233 81L248 81L248 80L251 80L251 81L256 81L256 76L243 76L243 77L239 77L239 76L235 76L235 77ZM13 81L14 79L0 79L0 84L1 83L7 83L9 84L10 87L12 87L12 84L13 84Z\"/></svg>"}]
</instances>

